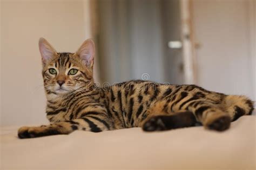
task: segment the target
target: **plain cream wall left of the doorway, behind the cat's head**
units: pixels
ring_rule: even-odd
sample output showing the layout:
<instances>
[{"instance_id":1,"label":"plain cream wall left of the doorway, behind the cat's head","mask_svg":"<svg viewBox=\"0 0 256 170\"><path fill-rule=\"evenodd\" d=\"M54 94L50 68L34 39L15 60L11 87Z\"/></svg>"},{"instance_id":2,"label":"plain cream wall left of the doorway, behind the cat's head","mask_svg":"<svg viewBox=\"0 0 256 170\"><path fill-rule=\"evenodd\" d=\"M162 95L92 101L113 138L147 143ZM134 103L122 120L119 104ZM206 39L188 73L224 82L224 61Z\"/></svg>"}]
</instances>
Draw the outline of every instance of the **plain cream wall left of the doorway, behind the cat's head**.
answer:
<instances>
[{"instance_id":1,"label":"plain cream wall left of the doorway, behind the cat's head","mask_svg":"<svg viewBox=\"0 0 256 170\"><path fill-rule=\"evenodd\" d=\"M39 37L61 52L89 38L87 1L1 1L1 125L47 123ZM87 22L86 22L87 21Z\"/></svg>"}]
</instances>

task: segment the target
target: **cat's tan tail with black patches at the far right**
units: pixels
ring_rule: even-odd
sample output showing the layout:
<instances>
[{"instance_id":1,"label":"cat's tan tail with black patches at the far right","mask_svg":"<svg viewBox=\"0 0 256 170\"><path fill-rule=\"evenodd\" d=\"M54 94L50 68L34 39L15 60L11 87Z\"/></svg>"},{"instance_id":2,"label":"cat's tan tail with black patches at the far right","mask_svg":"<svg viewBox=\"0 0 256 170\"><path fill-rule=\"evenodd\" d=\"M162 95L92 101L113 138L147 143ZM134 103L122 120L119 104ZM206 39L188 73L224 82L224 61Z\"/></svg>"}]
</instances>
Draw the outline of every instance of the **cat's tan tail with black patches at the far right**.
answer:
<instances>
[{"instance_id":1,"label":"cat's tan tail with black patches at the far right","mask_svg":"<svg viewBox=\"0 0 256 170\"><path fill-rule=\"evenodd\" d=\"M227 95L224 100L225 110L230 114L232 121L242 115L250 115L254 109L254 101L246 96Z\"/></svg>"}]
</instances>

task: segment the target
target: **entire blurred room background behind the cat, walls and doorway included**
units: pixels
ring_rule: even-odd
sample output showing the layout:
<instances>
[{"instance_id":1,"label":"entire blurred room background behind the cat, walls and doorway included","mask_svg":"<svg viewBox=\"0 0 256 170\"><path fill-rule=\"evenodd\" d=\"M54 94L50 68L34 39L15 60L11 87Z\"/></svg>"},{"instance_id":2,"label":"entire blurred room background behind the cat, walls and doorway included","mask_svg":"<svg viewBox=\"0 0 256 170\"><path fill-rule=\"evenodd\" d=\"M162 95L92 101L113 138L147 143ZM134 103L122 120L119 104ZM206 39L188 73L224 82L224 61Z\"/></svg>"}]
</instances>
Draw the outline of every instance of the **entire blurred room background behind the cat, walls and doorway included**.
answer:
<instances>
[{"instance_id":1,"label":"entire blurred room background behind the cat, walls and doorway included","mask_svg":"<svg viewBox=\"0 0 256 170\"><path fill-rule=\"evenodd\" d=\"M48 122L39 37L59 52L93 38L100 83L197 84L255 100L255 20L254 0L2 0L1 125Z\"/></svg>"}]
</instances>

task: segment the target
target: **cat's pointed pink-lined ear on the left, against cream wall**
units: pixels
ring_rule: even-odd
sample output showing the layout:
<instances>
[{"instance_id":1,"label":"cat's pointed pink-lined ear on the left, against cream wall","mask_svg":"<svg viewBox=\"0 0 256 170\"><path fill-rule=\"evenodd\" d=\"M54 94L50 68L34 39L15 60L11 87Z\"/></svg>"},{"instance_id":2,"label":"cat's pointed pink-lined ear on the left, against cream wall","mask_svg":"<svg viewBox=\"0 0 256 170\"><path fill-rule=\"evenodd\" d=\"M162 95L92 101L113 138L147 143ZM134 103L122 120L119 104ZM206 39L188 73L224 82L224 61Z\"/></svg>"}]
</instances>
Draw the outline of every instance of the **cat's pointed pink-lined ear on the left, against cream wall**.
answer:
<instances>
[{"instance_id":1,"label":"cat's pointed pink-lined ear on the left, against cream wall","mask_svg":"<svg viewBox=\"0 0 256 170\"><path fill-rule=\"evenodd\" d=\"M57 54L57 51L44 38L39 39L38 46L41 53L43 65L45 65L55 54Z\"/></svg>"}]
</instances>

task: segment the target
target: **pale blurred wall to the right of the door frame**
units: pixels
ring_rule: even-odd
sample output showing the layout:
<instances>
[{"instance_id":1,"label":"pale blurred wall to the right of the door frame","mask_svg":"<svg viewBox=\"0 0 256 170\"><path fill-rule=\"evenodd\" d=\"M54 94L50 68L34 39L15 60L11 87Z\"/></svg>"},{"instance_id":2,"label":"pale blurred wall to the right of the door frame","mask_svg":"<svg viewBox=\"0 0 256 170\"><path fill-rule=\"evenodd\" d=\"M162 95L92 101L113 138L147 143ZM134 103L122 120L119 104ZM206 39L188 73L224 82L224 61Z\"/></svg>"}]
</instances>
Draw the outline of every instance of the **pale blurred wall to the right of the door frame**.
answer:
<instances>
[{"instance_id":1,"label":"pale blurred wall to the right of the door frame","mask_svg":"<svg viewBox=\"0 0 256 170\"><path fill-rule=\"evenodd\" d=\"M192 2L195 38L200 44L196 49L198 84L255 100L255 43L250 36L253 29L255 35L255 27L250 26L250 1Z\"/></svg>"}]
</instances>

